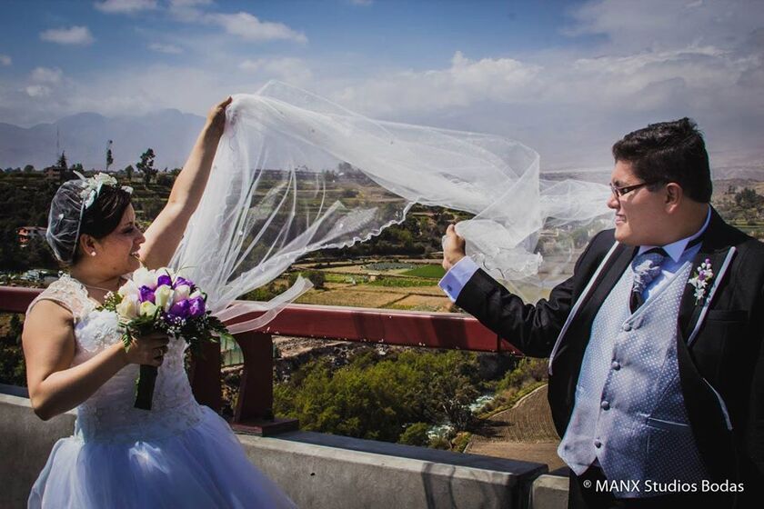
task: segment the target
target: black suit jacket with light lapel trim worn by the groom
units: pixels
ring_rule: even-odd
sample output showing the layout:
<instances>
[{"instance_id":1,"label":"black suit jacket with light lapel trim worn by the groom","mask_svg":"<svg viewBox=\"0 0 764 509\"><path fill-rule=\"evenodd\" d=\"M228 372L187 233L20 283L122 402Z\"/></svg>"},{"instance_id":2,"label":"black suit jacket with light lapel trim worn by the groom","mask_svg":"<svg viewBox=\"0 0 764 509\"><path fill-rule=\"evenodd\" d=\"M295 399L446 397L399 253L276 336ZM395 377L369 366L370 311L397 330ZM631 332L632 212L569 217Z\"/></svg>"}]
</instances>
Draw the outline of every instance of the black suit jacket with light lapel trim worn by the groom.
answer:
<instances>
[{"instance_id":1,"label":"black suit jacket with light lapel trim worn by the groom","mask_svg":"<svg viewBox=\"0 0 764 509\"><path fill-rule=\"evenodd\" d=\"M592 239L573 275L558 284L548 300L524 304L482 270L458 295L457 305L525 354L548 357L557 343L550 362L548 396L560 436L573 411L594 317L636 252L636 247L616 245L614 231L606 230ZM709 473L717 481L743 481L746 491L753 494L764 484L764 245L724 223L712 210L693 260L693 273L706 258L717 279L707 313L701 316L702 306L696 305L689 284L679 308L682 393ZM577 302L576 313L558 339ZM726 404L729 419L714 390ZM738 501L739 507L749 506L740 504L740 498ZM764 506L764 500L757 503Z\"/></svg>"}]
</instances>

